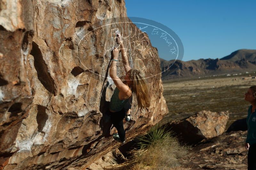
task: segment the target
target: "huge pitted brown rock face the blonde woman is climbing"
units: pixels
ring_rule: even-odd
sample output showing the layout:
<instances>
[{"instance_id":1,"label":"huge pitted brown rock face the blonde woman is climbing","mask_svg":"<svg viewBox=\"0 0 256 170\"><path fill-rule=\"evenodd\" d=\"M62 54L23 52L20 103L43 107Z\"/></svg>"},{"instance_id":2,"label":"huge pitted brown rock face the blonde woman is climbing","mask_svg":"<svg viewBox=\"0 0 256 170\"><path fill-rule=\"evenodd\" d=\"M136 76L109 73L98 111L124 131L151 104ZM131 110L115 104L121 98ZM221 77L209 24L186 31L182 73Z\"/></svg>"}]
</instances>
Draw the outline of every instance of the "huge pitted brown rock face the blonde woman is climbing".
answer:
<instances>
[{"instance_id":1,"label":"huge pitted brown rock face the blonde woman is climbing","mask_svg":"<svg viewBox=\"0 0 256 170\"><path fill-rule=\"evenodd\" d=\"M83 169L120 145L105 115L115 89L109 59L116 29L130 66L150 77L151 105L140 111L133 96L126 140L168 112L157 49L126 17L123 0L1 2L2 168ZM124 73L118 63L117 75Z\"/></svg>"}]
</instances>

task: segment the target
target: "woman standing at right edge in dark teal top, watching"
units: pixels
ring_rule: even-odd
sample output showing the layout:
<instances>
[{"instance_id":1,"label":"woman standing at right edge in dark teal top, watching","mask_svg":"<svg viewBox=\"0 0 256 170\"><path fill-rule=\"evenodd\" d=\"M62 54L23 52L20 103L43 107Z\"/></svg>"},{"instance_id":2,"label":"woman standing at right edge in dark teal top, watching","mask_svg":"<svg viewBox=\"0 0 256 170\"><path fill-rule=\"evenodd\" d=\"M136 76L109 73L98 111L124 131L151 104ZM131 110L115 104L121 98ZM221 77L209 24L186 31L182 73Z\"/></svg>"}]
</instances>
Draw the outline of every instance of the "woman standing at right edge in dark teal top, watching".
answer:
<instances>
[{"instance_id":1,"label":"woman standing at right edge in dark teal top, watching","mask_svg":"<svg viewBox=\"0 0 256 170\"><path fill-rule=\"evenodd\" d=\"M245 149L248 151L248 170L256 170L256 86L251 86L244 94L244 100L250 102L246 119L247 137Z\"/></svg>"}]
</instances>

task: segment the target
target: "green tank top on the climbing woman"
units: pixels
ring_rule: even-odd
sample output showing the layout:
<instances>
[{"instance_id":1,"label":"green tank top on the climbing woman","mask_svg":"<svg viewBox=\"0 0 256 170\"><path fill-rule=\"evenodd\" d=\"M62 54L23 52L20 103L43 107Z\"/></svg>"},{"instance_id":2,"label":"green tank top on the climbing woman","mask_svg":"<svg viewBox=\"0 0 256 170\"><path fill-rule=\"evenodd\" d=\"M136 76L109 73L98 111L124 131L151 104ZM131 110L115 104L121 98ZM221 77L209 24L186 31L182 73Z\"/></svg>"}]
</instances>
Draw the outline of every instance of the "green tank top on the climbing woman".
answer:
<instances>
[{"instance_id":1,"label":"green tank top on the climbing woman","mask_svg":"<svg viewBox=\"0 0 256 170\"><path fill-rule=\"evenodd\" d=\"M122 110L124 107L124 104L127 103L129 100L129 98L125 99L125 100L120 100L118 98L118 94L119 94L119 89L116 87L113 95L111 96L110 103L109 103L109 108L113 111Z\"/></svg>"}]
</instances>

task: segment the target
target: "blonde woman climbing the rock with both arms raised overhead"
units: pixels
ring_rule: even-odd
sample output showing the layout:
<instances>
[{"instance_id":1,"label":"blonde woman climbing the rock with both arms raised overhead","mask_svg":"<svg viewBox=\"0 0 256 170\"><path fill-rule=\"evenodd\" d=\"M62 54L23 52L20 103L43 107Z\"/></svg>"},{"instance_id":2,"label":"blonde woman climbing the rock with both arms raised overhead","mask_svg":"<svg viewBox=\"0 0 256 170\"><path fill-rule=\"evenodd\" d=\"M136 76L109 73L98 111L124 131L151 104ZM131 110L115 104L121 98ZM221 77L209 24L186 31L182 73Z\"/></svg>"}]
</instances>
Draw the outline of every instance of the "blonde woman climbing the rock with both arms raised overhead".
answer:
<instances>
[{"instance_id":1,"label":"blonde woman climbing the rock with both arms raised overhead","mask_svg":"<svg viewBox=\"0 0 256 170\"><path fill-rule=\"evenodd\" d=\"M116 42L121 47L122 62L124 64L125 76L124 82L117 77L116 74L116 62L118 60L119 50L114 48L113 59L111 60L109 75L116 85L116 89L110 99L108 114L110 115L111 122L116 128L118 133L113 134L113 138L120 142L125 142L125 131L123 125L123 119L125 117L126 110L124 105L132 97L132 92L137 96L138 107L149 107L150 101L148 96L148 86L144 80L142 73L139 70L130 67L126 50L124 48L121 34L117 33ZM129 109L130 110L130 109ZM128 113L129 113L128 110Z\"/></svg>"}]
</instances>

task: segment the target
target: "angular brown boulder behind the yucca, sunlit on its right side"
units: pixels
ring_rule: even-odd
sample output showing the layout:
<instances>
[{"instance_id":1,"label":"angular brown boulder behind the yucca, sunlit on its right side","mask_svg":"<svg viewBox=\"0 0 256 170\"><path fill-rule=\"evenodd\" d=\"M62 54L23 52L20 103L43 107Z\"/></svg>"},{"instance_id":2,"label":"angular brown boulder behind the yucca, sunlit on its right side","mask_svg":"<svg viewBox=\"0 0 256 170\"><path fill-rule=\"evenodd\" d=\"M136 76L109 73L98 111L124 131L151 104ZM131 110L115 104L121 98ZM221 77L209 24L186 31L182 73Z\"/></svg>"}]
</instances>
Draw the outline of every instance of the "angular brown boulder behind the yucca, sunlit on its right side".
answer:
<instances>
[{"instance_id":1,"label":"angular brown boulder behind the yucca, sunlit on its right side","mask_svg":"<svg viewBox=\"0 0 256 170\"><path fill-rule=\"evenodd\" d=\"M168 123L169 129L178 134L182 142L196 144L205 138L221 135L228 122L229 112L202 110L180 121Z\"/></svg>"}]
</instances>

